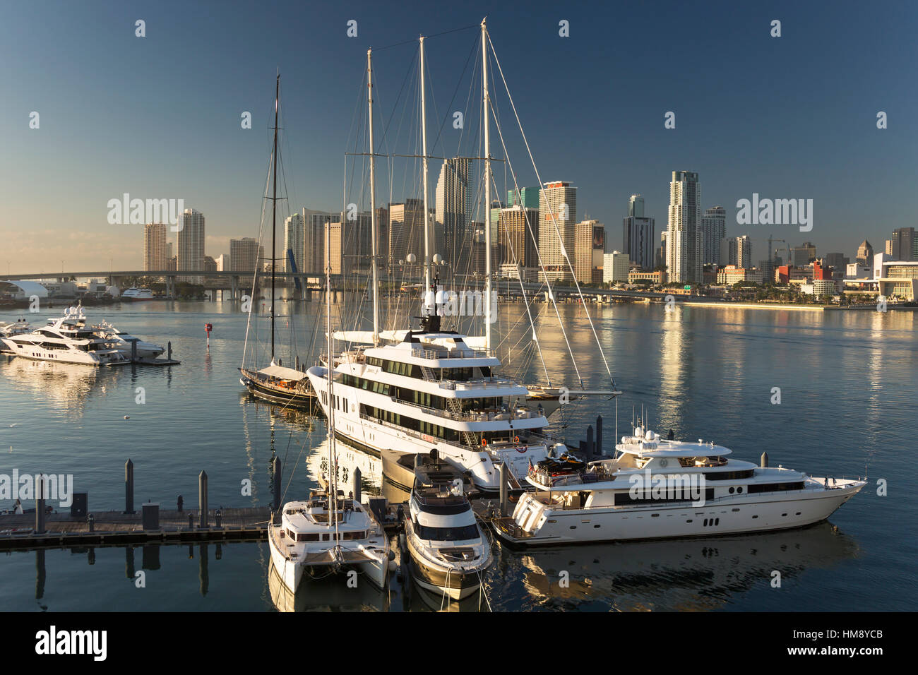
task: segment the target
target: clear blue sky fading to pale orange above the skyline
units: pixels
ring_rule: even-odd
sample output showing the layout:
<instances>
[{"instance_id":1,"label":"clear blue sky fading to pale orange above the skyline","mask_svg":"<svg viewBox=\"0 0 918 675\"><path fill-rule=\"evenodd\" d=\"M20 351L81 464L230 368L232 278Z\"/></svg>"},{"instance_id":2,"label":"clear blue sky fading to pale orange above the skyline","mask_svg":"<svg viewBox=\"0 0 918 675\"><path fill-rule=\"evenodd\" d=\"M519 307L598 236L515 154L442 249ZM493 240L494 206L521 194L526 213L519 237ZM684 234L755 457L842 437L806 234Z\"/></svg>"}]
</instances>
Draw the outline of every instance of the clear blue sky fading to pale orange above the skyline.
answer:
<instances>
[{"instance_id":1,"label":"clear blue sky fading to pale orange above the skyline","mask_svg":"<svg viewBox=\"0 0 918 675\"><path fill-rule=\"evenodd\" d=\"M14 274L60 270L62 260L68 269L139 267L141 228L106 221L107 201L126 192L181 197L203 211L207 254L254 235L278 68L291 206L340 209L366 49L375 49L378 140L387 119L411 116L404 92L395 104L417 51L413 43L380 48L485 15L543 180L579 187L577 215L604 222L610 248L621 247L635 192L657 231L666 227L670 174L685 169L700 173L704 207L727 208L728 233L754 238L756 259L767 254L768 234L852 257L865 237L881 249L893 228L918 225L916 7L4 2L0 271L7 261ZM769 35L775 18L780 38ZM349 19L358 22L356 38L346 35ZM562 19L568 38L558 35ZM472 83L461 75L476 38L470 29L427 40L431 141L447 113L466 113L465 141L447 124L432 154L474 150L476 99L466 110ZM496 96L510 135L506 97ZM676 129L664 128L670 110ZM877 129L880 110L888 129ZM39 129L29 129L31 111ZM252 129L241 129L242 111L252 112ZM388 139L377 151L420 151L404 129ZM502 154L496 137L492 151ZM534 185L519 132L509 158L521 184ZM420 195L413 161L400 162L394 197ZM431 191L438 172L433 161ZM389 190L382 173L380 203ZM812 198L813 230L737 225L736 200L754 192Z\"/></svg>"}]
</instances>

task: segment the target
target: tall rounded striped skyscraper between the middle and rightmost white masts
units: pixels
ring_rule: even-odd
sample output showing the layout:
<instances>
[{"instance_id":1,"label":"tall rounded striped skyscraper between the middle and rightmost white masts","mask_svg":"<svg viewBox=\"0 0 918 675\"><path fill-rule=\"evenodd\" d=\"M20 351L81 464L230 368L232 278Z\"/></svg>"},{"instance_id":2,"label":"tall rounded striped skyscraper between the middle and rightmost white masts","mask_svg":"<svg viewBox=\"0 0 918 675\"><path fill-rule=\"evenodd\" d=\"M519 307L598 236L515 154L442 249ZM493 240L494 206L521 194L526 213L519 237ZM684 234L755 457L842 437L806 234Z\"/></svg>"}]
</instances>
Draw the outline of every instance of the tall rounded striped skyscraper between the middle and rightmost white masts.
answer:
<instances>
[{"instance_id":1,"label":"tall rounded striped skyscraper between the middle and rightmost white masts","mask_svg":"<svg viewBox=\"0 0 918 675\"><path fill-rule=\"evenodd\" d=\"M469 264L473 191L471 160L465 157L443 160L437 179L434 213L435 222L442 228L442 242L433 243L431 256L440 253L460 274L465 273ZM496 226L497 222L494 224Z\"/></svg>"}]
</instances>

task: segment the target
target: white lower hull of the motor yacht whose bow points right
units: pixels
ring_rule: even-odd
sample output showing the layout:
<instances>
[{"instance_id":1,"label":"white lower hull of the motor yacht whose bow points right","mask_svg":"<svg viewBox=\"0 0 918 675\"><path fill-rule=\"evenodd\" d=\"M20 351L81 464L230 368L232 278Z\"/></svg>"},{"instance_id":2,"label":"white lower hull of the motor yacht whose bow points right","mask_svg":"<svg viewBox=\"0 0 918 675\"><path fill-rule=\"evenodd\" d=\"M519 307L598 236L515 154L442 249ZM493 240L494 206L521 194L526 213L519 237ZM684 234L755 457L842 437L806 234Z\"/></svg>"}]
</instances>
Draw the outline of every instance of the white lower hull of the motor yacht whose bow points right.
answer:
<instances>
[{"instance_id":1,"label":"white lower hull of the motor yacht whose bow points right","mask_svg":"<svg viewBox=\"0 0 918 675\"><path fill-rule=\"evenodd\" d=\"M700 507L690 503L660 503L641 507L542 509L538 502L531 501L531 495L527 495L514 511L514 526L497 521L494 529L501 539L515 546L768 532L819 523L865 484L865 481L851 481L841 488L807 489L786 497L771 493L727 498ZM545 522L533 528L543 515Z\"/></svg>"}]
</instances>

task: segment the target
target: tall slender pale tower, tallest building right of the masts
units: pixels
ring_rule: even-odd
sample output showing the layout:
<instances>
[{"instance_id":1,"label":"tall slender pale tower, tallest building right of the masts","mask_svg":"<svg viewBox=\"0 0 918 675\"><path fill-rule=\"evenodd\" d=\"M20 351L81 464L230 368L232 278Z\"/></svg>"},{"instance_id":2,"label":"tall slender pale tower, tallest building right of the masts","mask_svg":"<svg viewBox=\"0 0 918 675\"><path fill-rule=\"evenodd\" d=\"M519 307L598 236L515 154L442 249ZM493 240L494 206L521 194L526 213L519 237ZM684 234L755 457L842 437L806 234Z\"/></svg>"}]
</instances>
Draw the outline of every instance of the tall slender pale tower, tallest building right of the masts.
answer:
<instances>
[{"instance_id":1,"label":"tall slender pale tower, tallest building right of the masts","mask_svg":"<svg viewBox=\"0 0 918 675\"><path fill-rule=\"evenodd\" d=\"M669 184L666 276L670 281L700 283L701 184L694 171L674 171Z\"/></svg>"}]
</instances>

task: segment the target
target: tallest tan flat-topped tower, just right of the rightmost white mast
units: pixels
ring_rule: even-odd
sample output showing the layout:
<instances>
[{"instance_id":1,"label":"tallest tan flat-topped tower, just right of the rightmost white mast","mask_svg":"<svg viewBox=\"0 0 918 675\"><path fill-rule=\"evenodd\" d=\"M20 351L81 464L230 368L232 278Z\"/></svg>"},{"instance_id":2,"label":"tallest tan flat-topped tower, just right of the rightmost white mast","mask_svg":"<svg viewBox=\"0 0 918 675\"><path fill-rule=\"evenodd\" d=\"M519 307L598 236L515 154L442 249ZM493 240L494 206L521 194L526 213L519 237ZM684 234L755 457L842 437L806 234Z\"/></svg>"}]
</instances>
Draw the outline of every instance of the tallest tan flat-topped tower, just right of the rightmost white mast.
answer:
<instances>
[{"instance_id":1,"label":"tallest tan flat-topped tower, just right of the rightmost white mast","mask_svg":"<svg viewBox=\"0 0 918 675\"><path fill-rule=\"evenodd\" d=\"M549 281L570 281L565 253L574 262L577 187L565 181L546 183L539 193L539 253Z\"/></svg>"}]
</instances>

